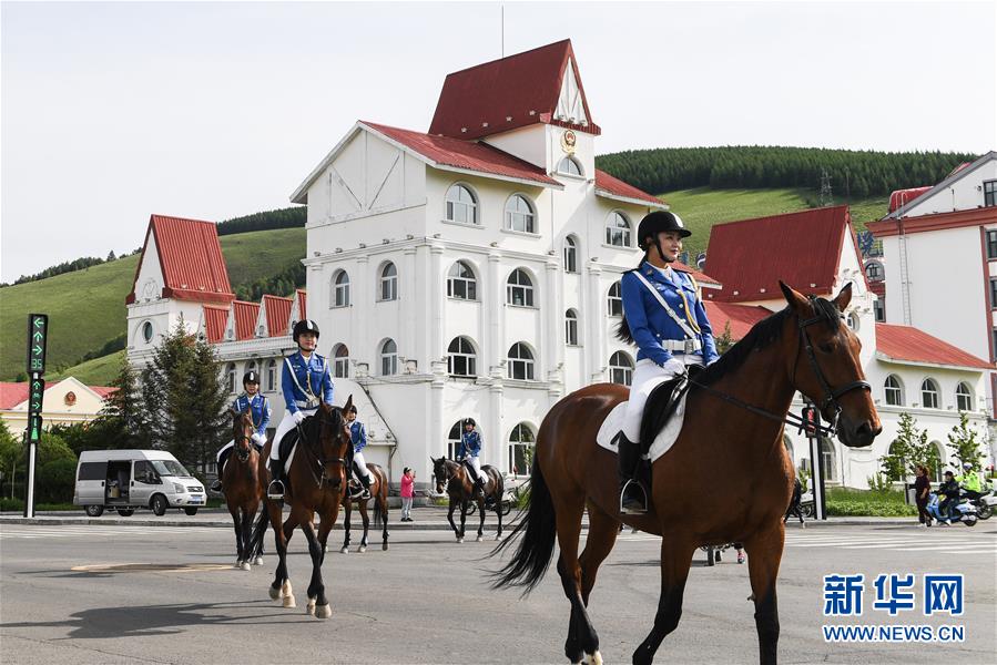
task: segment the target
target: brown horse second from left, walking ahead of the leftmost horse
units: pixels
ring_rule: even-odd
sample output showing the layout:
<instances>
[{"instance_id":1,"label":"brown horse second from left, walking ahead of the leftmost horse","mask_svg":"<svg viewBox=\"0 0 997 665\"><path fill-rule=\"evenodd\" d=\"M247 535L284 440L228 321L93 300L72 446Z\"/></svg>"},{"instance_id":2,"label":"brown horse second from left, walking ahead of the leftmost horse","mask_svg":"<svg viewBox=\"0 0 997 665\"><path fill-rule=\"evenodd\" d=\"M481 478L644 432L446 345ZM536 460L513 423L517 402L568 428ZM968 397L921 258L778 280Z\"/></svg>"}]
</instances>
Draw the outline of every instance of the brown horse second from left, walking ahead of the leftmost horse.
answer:
<instances>
[{"instance_id":1,"label":"brown horse second from left, walking ahead of the leftmost horse","mask_svg":"<svg viewBox=\"0 0 997 665\"><path fill-rule=\"evenodd\" d=\"M301 528L308 541L308 554L312 556L312 580L308 584L307 613L315 618L328 618L333 611L325 595L322 580L322 563L325 560L326 542L329 531L339 514L339 504L346 493L347 456L353 442L349 428L343 413L353 406L353 396L346 400L344 408L322 403L314 416L305 418L298 428L297 451L286 474L286 492L284 500L291 511L287 520L281 523L282 502L266 498L266 511L261 514L253 531L254 545L263 542L266 522L274 530L277 544L277 570L269 587L272 600L283 600L284 607L294 607L295 600L287 573L287 543L295 528ZM269 470L266 460L271 446L279 444L271 441L264 447L260 457L260 487L266 495L269 483ZM318 513L318 535L312 520Z\"/></svg>"}]
</instances>

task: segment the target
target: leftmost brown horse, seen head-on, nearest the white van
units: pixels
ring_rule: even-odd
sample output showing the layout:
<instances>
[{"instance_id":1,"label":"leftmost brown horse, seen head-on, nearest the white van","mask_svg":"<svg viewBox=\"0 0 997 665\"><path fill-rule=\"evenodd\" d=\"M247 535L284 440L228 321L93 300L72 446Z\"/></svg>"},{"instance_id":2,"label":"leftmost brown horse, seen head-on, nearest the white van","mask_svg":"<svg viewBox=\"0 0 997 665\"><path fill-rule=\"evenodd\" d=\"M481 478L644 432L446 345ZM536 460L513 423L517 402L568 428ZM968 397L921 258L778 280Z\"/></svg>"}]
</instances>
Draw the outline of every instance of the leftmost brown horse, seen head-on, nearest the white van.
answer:
<instances>
[{"instance_id":1,"label":"leftmost brown horse, seen head-on, nearest the white van","mask_svg":"<svg viewBox=\"0 0 997 665\"><path fill-rule=\"evenodd\" d=\"M260 487L258 469L260 453L253 444L253 416L248 409L245 411L230 410L232 413L232 437L235 440L235 449L228 456L225 469L222 471L222 487L225 488L225 503L232 514L232 523L235 525L235 566L244 571L250 570L250 564L263 563L262 548L252 548L253 521L256 511L260 510L260 501L263 499L263 490Z\"/></svg>"}]
</instances>

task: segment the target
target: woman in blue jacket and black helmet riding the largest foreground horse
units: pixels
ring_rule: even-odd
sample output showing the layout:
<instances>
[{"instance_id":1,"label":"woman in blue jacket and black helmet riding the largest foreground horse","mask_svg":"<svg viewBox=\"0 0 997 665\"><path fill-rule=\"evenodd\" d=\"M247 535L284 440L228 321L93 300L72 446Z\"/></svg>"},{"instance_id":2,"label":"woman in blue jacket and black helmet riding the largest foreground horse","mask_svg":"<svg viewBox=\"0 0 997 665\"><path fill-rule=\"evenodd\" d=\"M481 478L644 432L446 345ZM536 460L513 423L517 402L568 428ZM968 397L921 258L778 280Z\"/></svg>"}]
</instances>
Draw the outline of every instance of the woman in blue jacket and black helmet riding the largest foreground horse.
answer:
<instances>
[{"instance_id":1,"label":"woman in blue jacket and black helmet riding the largest foreground horse","mask_svg":"<svg viewBox=\"0 0 997 665\"><path fill-rule=\"evenodd\" d=\"M648 510L648 492L634 478L640 462L640 427L648 396L662 381L685 372L689 365L710 365L718 358L713 328L696 284L669 264L679 258L682 238L692 235L678 215L655 211L638 227L644 250L640 265L623 274L623 321L618 336L639 347L630 401L620 433L620 512Z\"/></svg>"}]
</instances>

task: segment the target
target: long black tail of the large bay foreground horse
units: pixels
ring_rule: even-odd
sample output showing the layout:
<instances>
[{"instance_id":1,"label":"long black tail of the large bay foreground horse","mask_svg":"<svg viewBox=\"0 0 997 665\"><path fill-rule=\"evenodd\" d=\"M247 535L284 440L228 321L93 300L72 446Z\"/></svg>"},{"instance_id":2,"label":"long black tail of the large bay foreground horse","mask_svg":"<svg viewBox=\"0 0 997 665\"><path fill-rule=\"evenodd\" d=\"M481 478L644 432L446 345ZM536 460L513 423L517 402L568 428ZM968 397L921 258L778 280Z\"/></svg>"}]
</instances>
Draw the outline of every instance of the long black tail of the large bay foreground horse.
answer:
<instances>
[{"instance_id":1,"label":"long black tail of the large bay foreground horse","mask_svg":"<svg viewBox=\"0 0 997 665\"><path fill-rule=\"evenodd\" d=\"M532 591L550 566L556 536L557 519L550 489L543 480L540 464L533 460L526 516L519 521L508 540L492 550L491 556L502 552L516 540L519 540L519 545L509 563L490 574L491 587L522 586L523 595Z\"/></svg>"}]
</instances>

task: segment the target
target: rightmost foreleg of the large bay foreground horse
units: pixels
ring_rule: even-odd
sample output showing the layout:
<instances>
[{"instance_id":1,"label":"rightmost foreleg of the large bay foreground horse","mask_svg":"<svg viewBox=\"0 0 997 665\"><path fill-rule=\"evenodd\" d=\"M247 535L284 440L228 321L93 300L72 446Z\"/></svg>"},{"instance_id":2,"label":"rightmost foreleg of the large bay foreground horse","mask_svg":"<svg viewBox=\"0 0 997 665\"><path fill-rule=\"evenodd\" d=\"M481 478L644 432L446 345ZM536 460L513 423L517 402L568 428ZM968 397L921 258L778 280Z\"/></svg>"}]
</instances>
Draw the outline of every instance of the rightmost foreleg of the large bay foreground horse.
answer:
<instances>
[{"instance_id":1,"label":"rightmost foreleg of the large bay foreground horse","mask_svg":"<svg viewBox=\"0 0 997 665\"><path fill-rule=\"evenodd\" d=\"M775 580L782 561L785 528L776 523L771 529L755 532L744 541L749 553L747 574L751 577L751 600L755 606L755 628L759 632L759 662L774 664L779 647L779 604L775 597Z\"/></svg>"}]
</instances>

